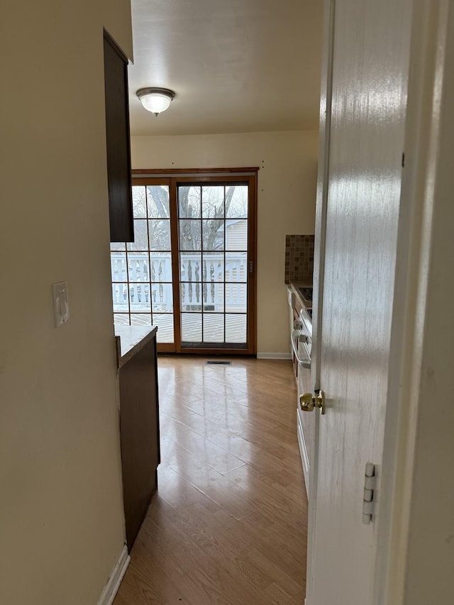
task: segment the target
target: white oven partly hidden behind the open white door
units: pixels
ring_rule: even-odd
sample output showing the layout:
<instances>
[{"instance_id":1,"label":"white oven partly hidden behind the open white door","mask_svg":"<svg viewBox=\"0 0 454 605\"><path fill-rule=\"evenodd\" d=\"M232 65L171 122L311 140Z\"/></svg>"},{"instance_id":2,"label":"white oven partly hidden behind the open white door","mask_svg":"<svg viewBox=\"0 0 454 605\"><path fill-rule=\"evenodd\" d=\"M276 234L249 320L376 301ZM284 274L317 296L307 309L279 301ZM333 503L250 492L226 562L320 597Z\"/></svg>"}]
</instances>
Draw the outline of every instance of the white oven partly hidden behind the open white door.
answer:
<instances>
[{"instance_id":1,"label":"white oven partly hidden behind the open white door","mask_svg":"<svg viewBox=\"0 0 454 605\"><path fill-rule=\"evenodd\" d=\"M294 322L292 331L292 351L297 359L297 435L301 463L304 472L304 483L309 496L309 471L312 448L314 445L315 415L301 411L299 396L311 392L311 348L312 348L312 321L306 309L301 309L299 319Z\"/></svg>"}]
</instances>

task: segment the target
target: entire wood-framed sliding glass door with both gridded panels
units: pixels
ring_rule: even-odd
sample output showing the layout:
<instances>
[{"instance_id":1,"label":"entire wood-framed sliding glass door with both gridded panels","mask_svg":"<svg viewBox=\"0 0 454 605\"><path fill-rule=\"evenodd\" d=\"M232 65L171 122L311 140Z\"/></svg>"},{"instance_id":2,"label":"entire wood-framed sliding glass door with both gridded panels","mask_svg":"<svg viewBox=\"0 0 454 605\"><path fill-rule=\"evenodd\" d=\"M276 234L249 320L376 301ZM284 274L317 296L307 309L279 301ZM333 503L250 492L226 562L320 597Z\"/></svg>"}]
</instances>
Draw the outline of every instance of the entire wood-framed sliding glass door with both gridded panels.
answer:
<instances>
[{"instance_id":1,"label":"entire wood-framed sliding glass door with both gridded panels","mask_svg":"<svg viewBox=\"0 0 454 605\"><path fill-rule=\"evenodd\" d=\"M255 353L255 175L135 178L133 216L115 323L157 325L161 351Z\"/></svg>"}]
</instances>

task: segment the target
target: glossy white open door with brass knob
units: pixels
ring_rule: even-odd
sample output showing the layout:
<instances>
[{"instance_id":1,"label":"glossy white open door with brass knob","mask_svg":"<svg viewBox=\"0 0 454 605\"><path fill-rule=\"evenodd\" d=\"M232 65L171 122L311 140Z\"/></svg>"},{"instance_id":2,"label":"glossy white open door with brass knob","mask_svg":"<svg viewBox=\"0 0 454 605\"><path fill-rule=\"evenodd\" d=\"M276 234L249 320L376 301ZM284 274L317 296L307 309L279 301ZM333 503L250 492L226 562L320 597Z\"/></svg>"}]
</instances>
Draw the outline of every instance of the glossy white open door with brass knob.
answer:
<instances>
[{"instance_id":1,"label":"glossy white open door with brass knob","mask_svg":"<svg viewBox=\"0 0 454 605\"><path fill-rule=\"evenodd\" d=\"M383 453L410 9L411 0L337 0L331 11L312 378L326 414L311 494L308 605L372 604L377 523L362 523L362 500L365 465L377 465L380 481Z\"/></svg>"}]
</instances>

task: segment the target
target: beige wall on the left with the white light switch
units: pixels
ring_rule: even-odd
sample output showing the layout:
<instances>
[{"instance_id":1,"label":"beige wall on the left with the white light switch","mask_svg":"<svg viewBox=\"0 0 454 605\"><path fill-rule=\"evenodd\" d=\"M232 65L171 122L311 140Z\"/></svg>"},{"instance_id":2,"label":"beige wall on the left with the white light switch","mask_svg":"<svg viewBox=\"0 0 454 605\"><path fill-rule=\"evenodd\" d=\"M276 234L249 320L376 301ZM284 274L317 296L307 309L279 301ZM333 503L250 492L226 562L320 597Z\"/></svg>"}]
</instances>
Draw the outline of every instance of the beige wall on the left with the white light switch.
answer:
<instances>
[{"instance_id":1,"label":"beige wall on the left with the white light switch","mask_svg":"<svg viewBox=\"0 0 454 605\"><path fill-rule=\"evenodd\" d=\"M94 605L123 546L103 26L128 0L1 2L0 603ZM51 284L70 322L54 328Z\"/></svg>"}]
</instances>

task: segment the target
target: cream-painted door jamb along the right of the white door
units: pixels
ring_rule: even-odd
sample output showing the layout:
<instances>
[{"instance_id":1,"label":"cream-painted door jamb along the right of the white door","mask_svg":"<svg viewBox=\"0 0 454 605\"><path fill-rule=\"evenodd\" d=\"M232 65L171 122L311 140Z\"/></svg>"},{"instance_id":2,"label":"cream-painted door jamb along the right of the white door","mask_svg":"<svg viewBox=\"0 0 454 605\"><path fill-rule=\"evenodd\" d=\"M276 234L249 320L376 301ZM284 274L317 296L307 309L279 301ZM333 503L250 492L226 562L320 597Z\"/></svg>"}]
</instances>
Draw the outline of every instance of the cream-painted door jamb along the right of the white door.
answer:
<instances>
[{"instance_id":1,"label":"cream-painted door jamb along the right of the white door","mask_svg":"<svg viewBox=\"0 0 454 605\"><path fill-rule=\"evenodd\" d=\"M414 0L373 603L405 599L449 0ZM453 62L452 58L450 60ZM392 539L391 539L392 538Z\"/></svg>"}]
</instances>

